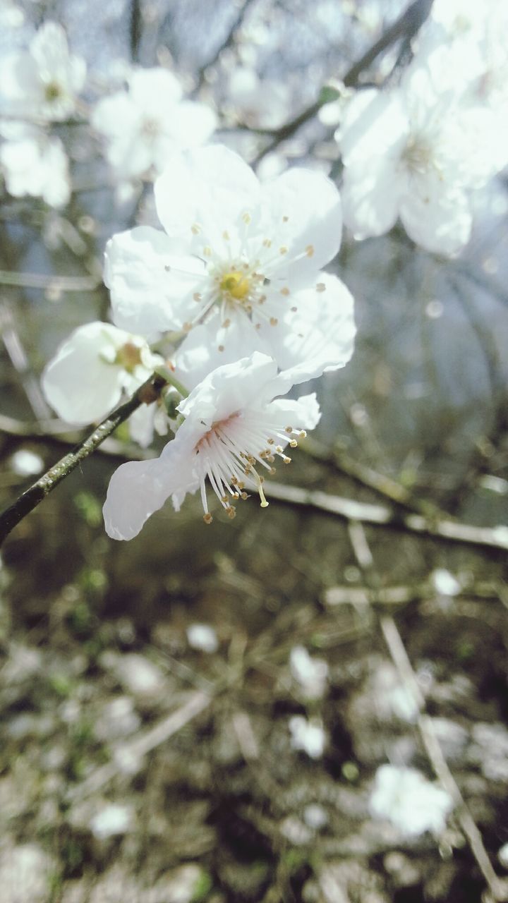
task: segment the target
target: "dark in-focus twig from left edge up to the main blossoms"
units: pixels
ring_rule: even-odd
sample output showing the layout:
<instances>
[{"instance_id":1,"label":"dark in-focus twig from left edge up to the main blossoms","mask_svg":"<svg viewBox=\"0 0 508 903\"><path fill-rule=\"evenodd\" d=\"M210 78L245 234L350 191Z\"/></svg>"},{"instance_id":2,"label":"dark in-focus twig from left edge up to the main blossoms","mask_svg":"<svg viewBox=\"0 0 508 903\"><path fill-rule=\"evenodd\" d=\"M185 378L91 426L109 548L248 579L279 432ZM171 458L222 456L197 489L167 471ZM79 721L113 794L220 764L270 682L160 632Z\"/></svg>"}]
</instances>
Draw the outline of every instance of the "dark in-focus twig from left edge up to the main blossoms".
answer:
<instances>
[{"instance_id":1,"label":"dark in-focus twig from left edge up to the main blossoms","mask_svg":"<svg viewBox=\"0 0 508 903\"><path fill-rule=\"evenodd\" d=\"M17 498L14 504L0 515L0 545L4 542L5 536L14 529L14 526L19 524L27 514L30 514L33 508L37 507L42 499L46 498L61 483L62 479L68 477L81 461L95 452L101 442L104 442L138 407L155 401L165 383L165 378L157 374L149 377L143 386L140 386L134 395L120 405L113 414L109 414L84 442L61 458L61 461L54 464L50 470L33 483L30 489Z\"/></svg>"}]
</instances>

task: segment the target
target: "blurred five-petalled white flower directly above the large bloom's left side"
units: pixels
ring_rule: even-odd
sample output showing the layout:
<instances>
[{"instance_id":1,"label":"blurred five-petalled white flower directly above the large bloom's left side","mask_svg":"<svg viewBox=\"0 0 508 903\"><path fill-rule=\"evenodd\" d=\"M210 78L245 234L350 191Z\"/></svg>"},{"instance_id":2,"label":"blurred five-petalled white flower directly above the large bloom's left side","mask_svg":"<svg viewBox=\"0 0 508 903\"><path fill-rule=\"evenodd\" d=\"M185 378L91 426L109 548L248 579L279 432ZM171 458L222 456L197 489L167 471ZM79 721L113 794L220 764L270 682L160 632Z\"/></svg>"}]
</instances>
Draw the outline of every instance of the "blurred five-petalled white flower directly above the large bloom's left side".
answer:
<instances>
[{"instance_id":1,"label":"blurred five-petalled white flower directly above the large bloom's left side","mask_svg":"<svg viewBox=\"0 0 508 903\"><path fill-rule=\"evenodd\" d=\"M182 99L182 88L165 69L138 69L128 77L128 90L99 100L92 126L107 139L106 155L120 178L144 175L165 167L170 154L203 144L217 117L204 104Z\"/></svg>"}]
</instances>

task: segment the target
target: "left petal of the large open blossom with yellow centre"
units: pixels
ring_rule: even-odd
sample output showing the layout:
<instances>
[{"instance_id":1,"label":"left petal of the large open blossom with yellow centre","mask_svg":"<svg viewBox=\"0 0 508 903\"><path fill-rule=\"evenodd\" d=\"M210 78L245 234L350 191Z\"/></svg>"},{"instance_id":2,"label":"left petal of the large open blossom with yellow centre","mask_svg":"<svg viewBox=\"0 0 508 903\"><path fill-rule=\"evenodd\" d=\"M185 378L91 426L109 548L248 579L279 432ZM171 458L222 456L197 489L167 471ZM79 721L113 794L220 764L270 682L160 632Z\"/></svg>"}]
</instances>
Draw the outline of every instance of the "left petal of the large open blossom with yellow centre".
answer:
<instances>
[{"instance_id":1,"label":"left petal of the large open blossom with yellow centre","mask_svg":"<svg viewBox=\"0 0 508 903\"><path fill-rule=\"evenodd\" d=\"M182 328L204 268L175 251L164 232L149 226L108 241L104 281L117 326L146 336Z\"/></svg>"}]
</instances>

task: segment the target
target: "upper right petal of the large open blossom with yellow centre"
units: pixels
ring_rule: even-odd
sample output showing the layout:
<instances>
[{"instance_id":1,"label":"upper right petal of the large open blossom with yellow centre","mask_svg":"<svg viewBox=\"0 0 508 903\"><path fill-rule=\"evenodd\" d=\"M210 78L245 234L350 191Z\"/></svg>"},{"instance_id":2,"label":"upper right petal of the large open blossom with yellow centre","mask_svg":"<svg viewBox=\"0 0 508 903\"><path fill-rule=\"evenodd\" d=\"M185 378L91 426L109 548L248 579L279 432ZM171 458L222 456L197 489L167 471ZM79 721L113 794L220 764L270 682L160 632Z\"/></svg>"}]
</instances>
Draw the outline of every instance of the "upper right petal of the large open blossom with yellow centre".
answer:
<instances>
[{"instance_id":1,"label":"upper right petal of the large open blossom with yellow centre","mask_svg":"<svg viewBox=\"0 0 508 903\"><path fill-rule=\"evenodd\" d=\"M267 272L287 271L291 279L314 273L337 254L342 227L339 191L322 172L295 168L263 183L260 232L274 239L277 261Z\"/></svg>"}]
</instances>

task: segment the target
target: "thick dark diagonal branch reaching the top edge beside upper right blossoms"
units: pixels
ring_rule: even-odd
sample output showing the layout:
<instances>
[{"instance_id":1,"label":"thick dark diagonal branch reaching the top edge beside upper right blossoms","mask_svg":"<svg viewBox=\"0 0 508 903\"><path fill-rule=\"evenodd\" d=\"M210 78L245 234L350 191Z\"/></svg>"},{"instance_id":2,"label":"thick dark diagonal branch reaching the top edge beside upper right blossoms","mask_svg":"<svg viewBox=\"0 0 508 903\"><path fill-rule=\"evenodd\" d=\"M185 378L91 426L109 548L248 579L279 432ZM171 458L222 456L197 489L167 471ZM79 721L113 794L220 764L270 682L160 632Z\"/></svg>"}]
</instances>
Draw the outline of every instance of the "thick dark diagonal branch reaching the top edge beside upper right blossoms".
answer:
<instances>
[{"instance_id":1,"label":"thick dark diagonal branch reaching the top edge beside upper right blossoms","mask_svg":"<svg viewBox=\"0 0 508 903\"><path fill-rule=\"evenodd\" d=\"M409 41L413 35L419 31L419 28L427 19L432 3L433 0L413 0L413 3L408 6L407 10L381 34L379 40L373 43L372 47L363 53L360 60L353 63L353 66L347 70L343 76L343 85L345 88L354 88L362 72L368 69L372 62L376 60L377 57L381 56L381 53L388 50L392 43L398 41L401 37L404 37L406 41ZM282 141L286 141L287 138L295 135L301 126L305 126L306 122L316 116L321 107L325 106L326 102L326 95L323 94L322 97L315 100L315 103L311 104L310 107L306 107L306 109L302 110L298 116L295 116L294 119L290 119L285 126L281 126L273 132L272 140L258 154L256 163L259 163L263 157L275 150Z\"/></svg>"}]
</instances>

